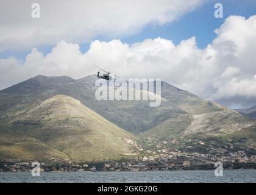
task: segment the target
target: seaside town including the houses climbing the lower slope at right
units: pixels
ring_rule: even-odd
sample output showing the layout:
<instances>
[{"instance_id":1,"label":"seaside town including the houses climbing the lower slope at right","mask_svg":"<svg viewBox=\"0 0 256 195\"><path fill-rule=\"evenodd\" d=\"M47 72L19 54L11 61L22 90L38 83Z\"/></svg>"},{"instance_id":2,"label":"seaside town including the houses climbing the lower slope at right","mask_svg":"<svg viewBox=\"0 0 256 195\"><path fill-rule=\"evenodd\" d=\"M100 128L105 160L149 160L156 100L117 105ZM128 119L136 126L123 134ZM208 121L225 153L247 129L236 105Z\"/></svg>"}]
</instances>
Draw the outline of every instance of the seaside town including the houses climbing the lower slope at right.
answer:
<instances>
[{"instance_id":1,"label":"seaside town including the houses climbing the lower slope at right","mask_svg":"<svg viewBox=\"0 0 256 195\"><path fill-rule=\"evenodd\" d=\"M48 161L38 162L40 170L41 172L208 170L216 169L216 162L220 162L224 169L256 169L254 147L238 146L235 142L239 141L229 140L233 144L223 144L216 139L203 141L196 138L182 141L172 139L168 143L145 137L146 144L143 147L136 141L123 139L133 147L134 153L123 154L119 160L102 159L101 161L77 163L69 159L51 158ZM185 146L180 147L182 144ZM34 168L32 162L0 161L0 172L31 171Z\"/></svg>"}]
</instances>

